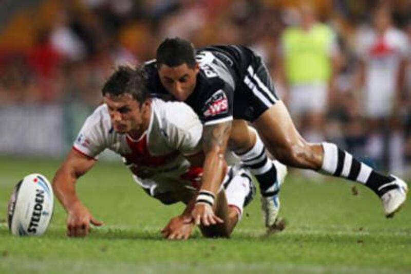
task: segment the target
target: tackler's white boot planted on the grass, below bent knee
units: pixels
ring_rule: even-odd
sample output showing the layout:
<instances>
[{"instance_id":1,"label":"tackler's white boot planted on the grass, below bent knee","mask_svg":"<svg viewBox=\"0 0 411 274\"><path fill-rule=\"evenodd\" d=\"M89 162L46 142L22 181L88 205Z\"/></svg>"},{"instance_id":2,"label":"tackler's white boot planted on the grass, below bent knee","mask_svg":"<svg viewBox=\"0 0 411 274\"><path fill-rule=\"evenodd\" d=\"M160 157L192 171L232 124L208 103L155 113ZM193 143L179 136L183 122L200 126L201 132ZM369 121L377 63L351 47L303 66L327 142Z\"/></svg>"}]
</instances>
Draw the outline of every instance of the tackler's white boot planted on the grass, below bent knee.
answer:
<instances>
[{"instance_id":1,"label":"tackler's white boot planted on the grass, below bent knee","mask_svg":"<svg viewBox=\"0 0 411 274\"><path fill-rule=\"evenodd\" d=\"M277 160L273 160L273 164L277 169L277 180L274 186L269 188L266 193L270 193L269 196L263 196L261 194L261 210L263 211L263 219L266 227L274 225L277 219L280 202L278 198L278 192L281 185L284 184L284 178L287 175L287 167Z\"/></svg>"}]
</instances>

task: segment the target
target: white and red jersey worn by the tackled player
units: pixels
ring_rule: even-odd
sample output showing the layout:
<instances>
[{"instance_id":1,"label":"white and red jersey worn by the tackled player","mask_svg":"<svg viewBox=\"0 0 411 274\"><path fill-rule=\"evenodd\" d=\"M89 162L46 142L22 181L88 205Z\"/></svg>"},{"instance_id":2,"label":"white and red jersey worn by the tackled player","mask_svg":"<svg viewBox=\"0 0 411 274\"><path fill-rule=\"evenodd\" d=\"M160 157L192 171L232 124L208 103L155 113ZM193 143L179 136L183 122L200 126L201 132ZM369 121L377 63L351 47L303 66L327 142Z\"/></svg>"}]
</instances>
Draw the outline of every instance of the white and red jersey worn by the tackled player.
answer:
<instances>
[{"instance_id":1,"label":"white and red jersey worn by the tackled player","mask_svg":"<svg viewBox=\"0 0 411 274\"><path fill-rule=\"evenodd\" d=\"M151 106L150 125L138 140L115 132L107 105L97 107L86 119L73 149L95 159L105 149L120 154L134 179L151 195L167 192L182 181L193 187L201 169L195 168L194 174L183 155L202 151L200 120L181 102L153 99Z\"/></svg>"}]
</instances>

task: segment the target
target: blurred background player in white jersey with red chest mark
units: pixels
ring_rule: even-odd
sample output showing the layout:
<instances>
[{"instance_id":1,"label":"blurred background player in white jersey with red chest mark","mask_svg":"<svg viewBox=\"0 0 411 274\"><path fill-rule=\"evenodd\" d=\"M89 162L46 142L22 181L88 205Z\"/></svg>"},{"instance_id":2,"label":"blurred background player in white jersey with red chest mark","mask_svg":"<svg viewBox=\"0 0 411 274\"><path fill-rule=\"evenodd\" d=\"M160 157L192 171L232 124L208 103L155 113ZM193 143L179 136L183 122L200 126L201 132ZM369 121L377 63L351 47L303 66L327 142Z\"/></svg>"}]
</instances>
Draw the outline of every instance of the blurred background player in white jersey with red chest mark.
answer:
<instances>
[{"instance_id":1,"label":"blurred background player in white jersey with red chest mark","mask_svg":"<svg viewBox=\"0 0 411 274\"><path fill-rule=\"evenodd\" d=\"M373 160L380 162L386 147L390 170L401 174L404 171L401 115L405 111L402 93L410 43L406 34L394 27L386 3L377 5L371 14L373 26L361 28L356 40L360 60L357 88L364 90L362 103L369 133L366 149Z\"/></svg>"}]
</instances>

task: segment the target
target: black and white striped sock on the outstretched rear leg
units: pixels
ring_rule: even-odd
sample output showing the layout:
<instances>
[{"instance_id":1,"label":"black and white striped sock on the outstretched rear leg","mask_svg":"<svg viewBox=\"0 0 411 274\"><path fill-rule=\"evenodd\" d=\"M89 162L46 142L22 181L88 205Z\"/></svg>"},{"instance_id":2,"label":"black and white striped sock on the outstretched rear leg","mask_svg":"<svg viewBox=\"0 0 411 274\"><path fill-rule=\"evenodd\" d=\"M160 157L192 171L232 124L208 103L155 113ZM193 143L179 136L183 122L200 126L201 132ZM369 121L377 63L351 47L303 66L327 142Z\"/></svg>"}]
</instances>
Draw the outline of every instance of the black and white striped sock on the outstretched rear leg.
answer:
<instances>
[{"instance_id":1,"label":"black and white striped sock on the outstretched rear leg","mask_svg":"<svg viewBox=\"0 0 411 274\"><path fill-rule=\"evenodd\" d=\"M396 187L393 185L384 187L395 178L376 172L365 163L353 158L348 152L339 149L337 145L327 142L323 142L322 145L324 159L321 169L325 173L360 182L379 196Z\"/></svg>"}]
</instances>

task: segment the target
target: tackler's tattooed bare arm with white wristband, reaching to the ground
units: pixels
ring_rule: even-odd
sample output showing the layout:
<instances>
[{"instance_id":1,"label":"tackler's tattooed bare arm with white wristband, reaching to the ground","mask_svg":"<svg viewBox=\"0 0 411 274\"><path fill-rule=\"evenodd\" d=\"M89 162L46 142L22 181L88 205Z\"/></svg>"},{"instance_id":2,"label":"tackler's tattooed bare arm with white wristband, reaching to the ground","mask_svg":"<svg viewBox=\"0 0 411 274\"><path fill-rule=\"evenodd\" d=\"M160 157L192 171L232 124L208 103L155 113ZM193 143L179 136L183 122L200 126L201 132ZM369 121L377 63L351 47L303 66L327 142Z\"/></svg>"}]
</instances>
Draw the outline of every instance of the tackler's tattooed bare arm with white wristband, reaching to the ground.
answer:
<instances>
[{"instance_id":1,"label":"tackler's tattooed bare arm with white wristband, reaching to the ground","mask_svg":"<svg viewBox=\"0 0 411 274\"><path fill-rule=\"evenodd\" d=\"M202 133L204 164L201 189L192 216L195 224L205 226L221 223L214 214L214 199L227 172L225 153L231 132L231 121L205 125Z\"/></svg>"}]
</instances>

